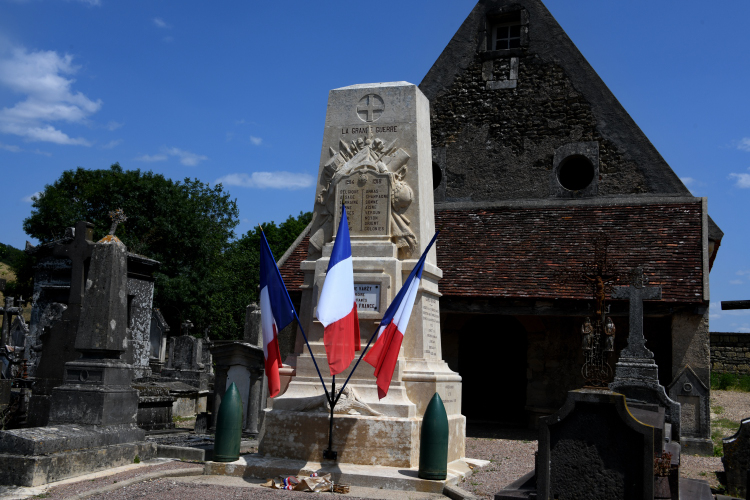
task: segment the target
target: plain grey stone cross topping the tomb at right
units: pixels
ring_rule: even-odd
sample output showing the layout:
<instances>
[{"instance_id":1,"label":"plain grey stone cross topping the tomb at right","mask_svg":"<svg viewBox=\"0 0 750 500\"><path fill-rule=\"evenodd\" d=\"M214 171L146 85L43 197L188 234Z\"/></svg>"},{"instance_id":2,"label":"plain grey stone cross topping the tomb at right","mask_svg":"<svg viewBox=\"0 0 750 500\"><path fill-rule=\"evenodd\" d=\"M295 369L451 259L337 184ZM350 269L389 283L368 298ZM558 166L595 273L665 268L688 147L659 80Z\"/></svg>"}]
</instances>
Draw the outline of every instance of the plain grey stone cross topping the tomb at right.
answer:
<instances>
[{"instance_id":1,"label":"plain grey stone cross topping the tomb at right","mask_svg":"<svg viewBox=\"0 0 750 500\"><path fill-rule=\"evenodd\" d=\"M646 286L648 280L643 275L643 268L636 267L630 280L630 286L616 286L612 290L613 299L630 301L630 332L628 345L620 353L626 358L653 358L654 353L646 348L643 337L643 301L661 299L661 287Z\"/></svg>"}]
</instances>

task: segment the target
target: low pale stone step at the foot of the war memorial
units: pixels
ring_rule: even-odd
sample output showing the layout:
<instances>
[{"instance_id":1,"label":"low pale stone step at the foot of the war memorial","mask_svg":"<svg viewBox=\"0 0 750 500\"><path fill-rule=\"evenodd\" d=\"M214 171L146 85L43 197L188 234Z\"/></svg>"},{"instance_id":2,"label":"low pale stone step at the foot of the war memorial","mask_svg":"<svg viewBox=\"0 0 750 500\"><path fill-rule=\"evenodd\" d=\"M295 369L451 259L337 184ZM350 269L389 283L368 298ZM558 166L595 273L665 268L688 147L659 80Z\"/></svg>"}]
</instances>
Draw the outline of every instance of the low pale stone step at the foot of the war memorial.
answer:
<instances>
[{"instance_id":1,"label":"low pale stone step at the foot of the war memorial","mask_svg":"<svg viewBox=\"0 0 750 500\"><path fill-rule=\"evenodd\" d=\"M473 469L484 467L489 463L487 460L470 458L455 460L448 464L448 476L444 481L430 481L417 477L418 468L305 462L253 453L242 455L235 462L206 462L203 474L270 479L278 476L309 476L316 472L318 475L331 474L334 483L350 486L442 494L446 484L456 484L461 479L470 476Z\"/></svg>"}]
</instances>

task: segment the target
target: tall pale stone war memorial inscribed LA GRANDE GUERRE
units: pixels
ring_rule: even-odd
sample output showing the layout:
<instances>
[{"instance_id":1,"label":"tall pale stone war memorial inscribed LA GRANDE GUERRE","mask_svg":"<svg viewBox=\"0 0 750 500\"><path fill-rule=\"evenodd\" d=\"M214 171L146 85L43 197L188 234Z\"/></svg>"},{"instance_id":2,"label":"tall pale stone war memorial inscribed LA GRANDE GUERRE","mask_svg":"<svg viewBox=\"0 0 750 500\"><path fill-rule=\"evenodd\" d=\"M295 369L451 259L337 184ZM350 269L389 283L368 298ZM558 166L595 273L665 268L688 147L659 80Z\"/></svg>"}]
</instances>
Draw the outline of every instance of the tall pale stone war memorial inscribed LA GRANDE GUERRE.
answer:
<instances>
[{"instance_id":1,"label":"tall pale stone war memorial inscribed LA GRANDE GUERRE","mask_svg":"<svg viewBox=\"0 0 750 500\"><path fill-rule=\"evenodd\" d=\"M435 232L429 103L415 85L354 85L329 94L310 245L301 263L305 279L299 311L329 388L323 326L315 308L342 202L364 347ZM461 377L443 361L440 345L441 277L432 249L388 396L378 400L367 363L360 363L352 376L347 404L337 406L350 413L334 418L333 450L340 462L416 467L420 420L435 392L448 412L448 461L463 458ZM290 364L296 376L266 413L260 453L317 461L328 444L327 406L300 334L294 354ZM337 387L353 366L336 378Z\"/></svg>"}]
</instances>

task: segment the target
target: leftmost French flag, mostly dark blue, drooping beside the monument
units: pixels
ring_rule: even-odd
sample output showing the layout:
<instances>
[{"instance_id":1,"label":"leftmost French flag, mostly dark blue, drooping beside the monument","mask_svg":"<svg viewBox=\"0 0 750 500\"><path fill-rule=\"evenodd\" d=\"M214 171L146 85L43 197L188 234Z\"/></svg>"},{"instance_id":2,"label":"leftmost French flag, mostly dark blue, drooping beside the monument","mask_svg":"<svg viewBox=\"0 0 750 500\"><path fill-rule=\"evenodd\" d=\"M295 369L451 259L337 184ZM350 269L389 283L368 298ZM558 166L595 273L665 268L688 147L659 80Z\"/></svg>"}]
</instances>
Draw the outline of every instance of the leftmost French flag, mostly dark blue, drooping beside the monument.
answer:
<instances>
[{"instance_id":1,"label":"leftmost French flag, mostly dark blue, drooping beside the monument","mask_svg":"<svg viewBox=\"0 0 750 500\"><path fill-rule=\"evenodd\" d=\"M279 332L294 320L294 305L289 298L284 280L281 278L276 259L268 246L266 235L260 233L260 318L263 330L263 355L266 358L268 394L275 397L279 393Z\"/></svg>"}]
</instances>

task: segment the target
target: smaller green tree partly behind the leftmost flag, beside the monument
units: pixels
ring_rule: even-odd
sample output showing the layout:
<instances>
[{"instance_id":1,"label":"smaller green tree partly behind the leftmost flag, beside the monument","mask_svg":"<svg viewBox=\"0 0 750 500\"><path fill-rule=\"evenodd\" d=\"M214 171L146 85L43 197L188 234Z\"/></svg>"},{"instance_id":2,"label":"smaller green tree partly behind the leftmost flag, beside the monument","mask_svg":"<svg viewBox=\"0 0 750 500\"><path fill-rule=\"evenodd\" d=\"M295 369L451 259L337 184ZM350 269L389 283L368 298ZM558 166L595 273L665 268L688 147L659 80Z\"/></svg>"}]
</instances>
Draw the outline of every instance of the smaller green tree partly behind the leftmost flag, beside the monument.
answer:
<instances>
[{"instance_id":1,"label":"smaller green tree partly behind the leftmost flag, beside the monument","mask_svg":"<svg viewBox=\"0 0 750 500\"><path fill-rule=\"evenodd\" d=\"M274 222L263 224L268 246L276 260L284 255L311 220L311 212L300 212L297 217L289 216L278 226ZM214 273L217 292L211 300L214 314L212 337L242 338L245 308L251 302L258 302L259 267L260 228L255 227L231 243L224 252L221 266Z\"/></svg>"}]
</instances>

